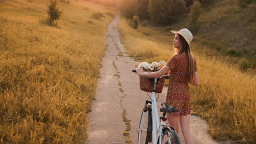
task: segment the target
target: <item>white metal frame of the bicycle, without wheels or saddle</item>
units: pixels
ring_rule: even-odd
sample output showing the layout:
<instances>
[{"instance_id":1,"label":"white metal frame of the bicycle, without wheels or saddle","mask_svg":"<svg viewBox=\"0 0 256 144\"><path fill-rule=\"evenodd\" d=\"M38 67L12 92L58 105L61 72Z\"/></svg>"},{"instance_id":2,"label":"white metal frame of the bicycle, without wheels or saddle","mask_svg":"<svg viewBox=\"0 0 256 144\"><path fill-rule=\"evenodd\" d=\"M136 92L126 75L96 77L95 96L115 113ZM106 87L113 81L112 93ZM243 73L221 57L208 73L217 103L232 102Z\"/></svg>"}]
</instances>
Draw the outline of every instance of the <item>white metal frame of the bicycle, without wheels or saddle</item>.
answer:
<instances>
[{"instance_id":1,"label":"white metal frame of the bicycle, without wheels or saddle","mask_svg":"<svg viewBox=\"0 0 256 144\"><path fill-rule=\"evenodd\" d=\"M160 79L164 76L168 76L168 75L162 75L160 77ZM154 90L156 89L156 78L155 78L155 81L154 81L155 85L154 85ZM162 140L161 140L161 136L162 136L162 126L165 126L165 122L161 120L161 124L159 122L159 116L158 116L158 105L156 103L156 95L155 95L155 92L152 92L152 95L151 95L151 100L152 100L152 126L153 126L153 144L156 144L158 142L158 137L159 137L159 143L162 143ZM144 115L145 115L146 112L143 112L143 116L142 118L144 118ZM141 122L144 122L143 121L144 119L142 119ZM141 123L142 125L142 123ZM158 129L156 129L158 128ZM141 131L141 130L140 130ZM141 139L139 137L139 139Z\"/></svg>"}]
</instances>

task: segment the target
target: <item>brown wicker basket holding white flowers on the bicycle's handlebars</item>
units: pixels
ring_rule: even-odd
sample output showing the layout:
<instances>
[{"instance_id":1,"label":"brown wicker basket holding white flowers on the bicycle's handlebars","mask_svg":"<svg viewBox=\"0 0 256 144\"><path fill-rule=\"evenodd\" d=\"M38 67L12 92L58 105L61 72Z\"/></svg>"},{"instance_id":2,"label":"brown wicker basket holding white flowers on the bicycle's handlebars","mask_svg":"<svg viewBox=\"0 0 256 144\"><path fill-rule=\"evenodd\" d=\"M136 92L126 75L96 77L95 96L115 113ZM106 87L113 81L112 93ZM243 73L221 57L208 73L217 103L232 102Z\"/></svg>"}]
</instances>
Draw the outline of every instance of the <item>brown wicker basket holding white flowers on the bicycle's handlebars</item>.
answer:
<instances>
[{"instance_id":1,"label":"brown wicker basket holding white flowers on the bicycle's handlebars","mask_svg":"<svg viewBox=\"0 0 256 144\"><path fill-rule=\"evenodd\" d=\"M162 88L164 87L165 77L162 77L160 80L156 81L155 93L161 93ZM152 93L154 88L154 78L148 78L144 76L139 76L139 86L142 91Z\"/></svg>"}]
</instances>

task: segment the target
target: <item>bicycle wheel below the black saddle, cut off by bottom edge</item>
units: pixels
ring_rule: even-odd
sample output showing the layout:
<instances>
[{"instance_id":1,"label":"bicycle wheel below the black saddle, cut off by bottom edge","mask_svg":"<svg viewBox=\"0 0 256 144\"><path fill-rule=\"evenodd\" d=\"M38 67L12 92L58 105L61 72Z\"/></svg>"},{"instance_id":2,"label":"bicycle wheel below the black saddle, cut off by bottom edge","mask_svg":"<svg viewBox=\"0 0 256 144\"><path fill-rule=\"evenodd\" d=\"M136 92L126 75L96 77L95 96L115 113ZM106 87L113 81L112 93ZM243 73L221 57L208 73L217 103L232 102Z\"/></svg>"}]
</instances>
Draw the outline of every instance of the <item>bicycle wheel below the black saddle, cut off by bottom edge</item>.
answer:
<instances>
[{"instance_id":1,"label":"bicycle wheel below the black saddle, cut off by bottom edge","mask_svg":"<svg viewBox=\"0 0 256 144\"><path fill-rule=\"evenodd\" d=\"M179 136L173 128L164 128L162 130L162 143L165 144L180 144Z\"/></svg>"}]
</instances>

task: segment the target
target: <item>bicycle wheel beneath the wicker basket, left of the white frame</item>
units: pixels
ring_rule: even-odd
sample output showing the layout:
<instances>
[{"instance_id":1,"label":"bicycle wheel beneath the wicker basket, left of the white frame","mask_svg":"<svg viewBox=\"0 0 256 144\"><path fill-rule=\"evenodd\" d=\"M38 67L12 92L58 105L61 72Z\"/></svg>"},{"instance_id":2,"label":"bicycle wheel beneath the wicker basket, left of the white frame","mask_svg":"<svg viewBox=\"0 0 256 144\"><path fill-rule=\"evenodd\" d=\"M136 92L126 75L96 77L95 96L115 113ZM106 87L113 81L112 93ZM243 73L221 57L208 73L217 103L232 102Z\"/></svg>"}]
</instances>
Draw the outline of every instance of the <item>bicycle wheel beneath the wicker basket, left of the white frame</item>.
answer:
<instances>
[{"instance_id":1,"label":"bicycle wheel beneath the wicker basket, left of the white frame","mask_svg":"<svg viewBox=\"0 0 256 144\"><path fill-rule=\"evenodd\" d=\"M138 144L147 144L152 142L152 109L144 109L142 111L141 121L139 123Z\"/></svg>"}]
</instances>

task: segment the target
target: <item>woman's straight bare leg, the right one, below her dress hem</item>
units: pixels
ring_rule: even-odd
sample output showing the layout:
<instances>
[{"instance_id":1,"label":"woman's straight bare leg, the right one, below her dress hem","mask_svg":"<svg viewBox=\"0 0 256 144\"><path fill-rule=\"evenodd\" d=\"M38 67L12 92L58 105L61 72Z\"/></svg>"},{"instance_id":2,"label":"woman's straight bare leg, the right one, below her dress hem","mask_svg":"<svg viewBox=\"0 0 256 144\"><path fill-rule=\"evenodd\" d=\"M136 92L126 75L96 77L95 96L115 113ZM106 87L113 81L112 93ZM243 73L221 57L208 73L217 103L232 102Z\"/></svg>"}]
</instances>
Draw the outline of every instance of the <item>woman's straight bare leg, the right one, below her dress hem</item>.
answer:
<instances>
[{"instance_id":1,"label":"woman's straight bare leg, the right one, below her dress hem","mask_svg":"<svg viewBox=\"0 0 256 144\"><path fill-rule=\"evenodd\" d=\"M182 134L186 144L194 144L193 137L189 130L190 115L179 116L179 122L181 123Z\"/></svg>"}]
</instances>

